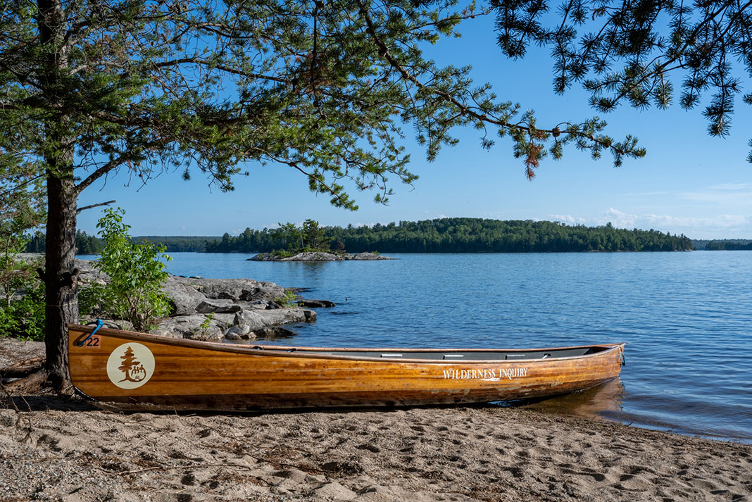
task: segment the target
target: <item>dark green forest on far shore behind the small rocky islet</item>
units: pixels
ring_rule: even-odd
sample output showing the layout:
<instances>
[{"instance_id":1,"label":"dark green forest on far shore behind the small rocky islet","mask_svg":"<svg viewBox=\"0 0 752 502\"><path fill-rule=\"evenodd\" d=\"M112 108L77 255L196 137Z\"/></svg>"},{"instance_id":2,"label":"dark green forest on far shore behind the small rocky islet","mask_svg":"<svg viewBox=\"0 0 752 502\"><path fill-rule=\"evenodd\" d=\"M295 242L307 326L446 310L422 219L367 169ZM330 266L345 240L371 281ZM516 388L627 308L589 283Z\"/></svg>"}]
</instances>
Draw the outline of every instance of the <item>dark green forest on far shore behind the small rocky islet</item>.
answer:
<instances>
[{"instance_id":1,"label":"dark green forest on far shore behind the small rocky islet","mask_svg":"<svg viewBox=\"0 0 752 502\"><path fill-rule=\"evenodd\" d=\"M479 218L427 219L372 227L323 227L332 249L349 253L548 253L585 251L686 251L684 235L656 230L625 230L611 223L598 227L532 220ZM340 246L340 243L342 246ZM276 229L246 228L233 237L207 241L209 253L253 253L284 249Z\"/></svg>"}]
</instances>

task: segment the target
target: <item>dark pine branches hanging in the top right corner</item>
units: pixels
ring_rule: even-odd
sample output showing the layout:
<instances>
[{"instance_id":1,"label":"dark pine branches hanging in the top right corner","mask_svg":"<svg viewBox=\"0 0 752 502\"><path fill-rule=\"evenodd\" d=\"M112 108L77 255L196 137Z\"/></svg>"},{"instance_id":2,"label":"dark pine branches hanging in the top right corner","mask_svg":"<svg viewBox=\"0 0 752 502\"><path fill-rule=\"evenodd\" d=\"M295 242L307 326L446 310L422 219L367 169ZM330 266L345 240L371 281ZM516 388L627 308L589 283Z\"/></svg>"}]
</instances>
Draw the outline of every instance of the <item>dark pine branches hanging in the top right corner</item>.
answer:
<instances>
[{"instance_id":1,"label":"dark pine branches hanging in the top right corner","mask_svg":"<svg viewBox=\"0 0 752 502\"><path fill-rule=\"evenodd\" d=\"M601 112L624 102L667 108L678 89L681 107L689 110L710 91L702 112L708 134L725 136L742 82L752 77L749 2L493 0L491 5L507 56L525 56L529 44L550 46L554 91L581 83ZM741 97L752 104L752 93Z\"/></svg>"}]
</instances>

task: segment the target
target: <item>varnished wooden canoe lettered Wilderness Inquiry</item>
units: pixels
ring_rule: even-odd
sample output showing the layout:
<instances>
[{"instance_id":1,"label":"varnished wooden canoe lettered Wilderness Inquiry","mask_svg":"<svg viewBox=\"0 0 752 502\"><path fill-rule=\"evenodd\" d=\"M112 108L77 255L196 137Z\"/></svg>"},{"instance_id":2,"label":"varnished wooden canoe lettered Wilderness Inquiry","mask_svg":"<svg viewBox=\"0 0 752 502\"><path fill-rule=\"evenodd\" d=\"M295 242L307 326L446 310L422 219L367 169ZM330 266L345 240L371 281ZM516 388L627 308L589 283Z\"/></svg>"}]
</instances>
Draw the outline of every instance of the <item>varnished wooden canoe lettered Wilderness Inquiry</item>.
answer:
<instances>
[{"instance_id":1,"label":"varnished wooden canoe lettered Wilderness Inquiry","mask_svg":"<svg viewBox=\"0 0 752 502\"><path fill-rule=\"evenodd\" d=\"M103 407L263 410L458 404L588 389L623 343L550 349L342 349L210 343L68 325L71 382Z\"/></svg>"}]
</instances>

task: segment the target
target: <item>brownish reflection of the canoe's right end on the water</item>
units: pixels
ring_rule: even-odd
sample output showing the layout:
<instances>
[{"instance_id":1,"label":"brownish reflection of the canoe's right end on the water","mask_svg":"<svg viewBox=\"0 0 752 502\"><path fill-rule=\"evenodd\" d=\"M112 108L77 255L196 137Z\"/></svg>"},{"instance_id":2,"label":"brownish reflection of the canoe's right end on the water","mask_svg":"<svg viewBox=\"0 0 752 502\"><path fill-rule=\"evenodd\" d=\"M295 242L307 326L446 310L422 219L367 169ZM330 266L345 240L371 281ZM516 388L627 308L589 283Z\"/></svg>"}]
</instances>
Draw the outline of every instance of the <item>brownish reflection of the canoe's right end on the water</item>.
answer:
<instances>
[{"instance_id":1,"label":"brownish reflection of the canoe's right end on the water","mask_svg":"<svg viewBox=\"0 0 752 502\"><path fill-rule=\"evenodd\" d=\"M624 388L617 377L584 391L528 402L520 407L559 415L581 416L586 419L605 419L605 414L621 411L623 395Z\"/></svg>"}]
</instances>

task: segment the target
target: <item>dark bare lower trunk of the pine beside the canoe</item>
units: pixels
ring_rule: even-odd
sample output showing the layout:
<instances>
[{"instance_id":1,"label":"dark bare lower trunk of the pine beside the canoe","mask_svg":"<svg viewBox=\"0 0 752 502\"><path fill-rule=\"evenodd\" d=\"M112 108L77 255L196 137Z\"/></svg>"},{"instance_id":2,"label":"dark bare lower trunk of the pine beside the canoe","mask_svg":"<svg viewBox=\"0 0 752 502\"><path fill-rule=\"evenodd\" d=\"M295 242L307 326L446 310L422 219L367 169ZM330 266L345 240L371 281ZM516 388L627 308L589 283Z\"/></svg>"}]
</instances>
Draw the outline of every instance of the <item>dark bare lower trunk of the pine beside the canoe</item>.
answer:
<instances>
[{"instance_id":1,"label":"dark bare lower trunk of the pine beside the canoe","mask_svg":"<svg viewBox=\"0 0 752 502\"><path fill-rule=\"evenodd\" d=\"M72 160L72 159L71 159ZM50 383L62 389L68 381L68 322L78 321L76 254L77 190L73 174L47 177L47 251L44 343Z\"/></svg>"}]
</instances>

